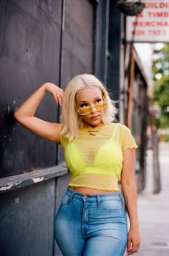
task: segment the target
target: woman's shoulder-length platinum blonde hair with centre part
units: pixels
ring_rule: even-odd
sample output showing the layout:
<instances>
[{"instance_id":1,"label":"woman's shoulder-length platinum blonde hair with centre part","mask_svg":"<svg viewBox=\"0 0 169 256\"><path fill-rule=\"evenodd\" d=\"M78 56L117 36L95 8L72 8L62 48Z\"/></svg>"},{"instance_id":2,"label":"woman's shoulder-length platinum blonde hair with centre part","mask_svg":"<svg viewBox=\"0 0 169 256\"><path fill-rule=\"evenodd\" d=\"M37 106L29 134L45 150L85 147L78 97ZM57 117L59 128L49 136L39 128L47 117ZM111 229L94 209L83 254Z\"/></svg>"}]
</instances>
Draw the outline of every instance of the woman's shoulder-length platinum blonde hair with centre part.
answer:
<instances>
[{"instance_id":1,"label":"woman's shoulder-length platinum blonde hair with centre part","mask_svg":"<svg viewBox=\"0 0 169 256\"><path fill-rule=\"evenodd\" d=\"M115 102L110 99L110 96L102 82L98 80L94 75L90 74L75 76L67 84L62 103L61 133L68 140L77 139L79 134L79 127L84 127L82 119L77 114L76 96L79 91L87 88L98 88L102 92L102 99L107 103L105 109L103 110L103 124L107 124L115 120L115 114L117 114Z\"/></svg>"}]
</instances>

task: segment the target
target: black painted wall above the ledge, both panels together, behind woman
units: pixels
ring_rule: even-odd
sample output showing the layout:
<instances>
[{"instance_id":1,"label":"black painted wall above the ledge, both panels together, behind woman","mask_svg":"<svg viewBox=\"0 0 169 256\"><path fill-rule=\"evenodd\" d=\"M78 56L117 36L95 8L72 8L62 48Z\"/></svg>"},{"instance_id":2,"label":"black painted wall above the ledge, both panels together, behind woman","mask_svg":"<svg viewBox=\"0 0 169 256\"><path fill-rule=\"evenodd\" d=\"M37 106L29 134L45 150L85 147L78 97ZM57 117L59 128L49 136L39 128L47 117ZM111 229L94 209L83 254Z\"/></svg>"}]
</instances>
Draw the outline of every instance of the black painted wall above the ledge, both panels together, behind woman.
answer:
<instances>
[{"instance_id":1,"label":"black painted wall above the ledge, both panels together, behind woman","mask_svg":"<svg viewBox=\"0 0 169 256\"><path fill-rule=\"evenodd\" d=\"M1 0L0 3L0 177L57 165L57 145L19 125L14 111L42 83L62 88L79 73L92 73L91 1ZM59 121L52 96L37 116ZM59 159L58 159L59 157Z\"/></svg>"}]
</instances>

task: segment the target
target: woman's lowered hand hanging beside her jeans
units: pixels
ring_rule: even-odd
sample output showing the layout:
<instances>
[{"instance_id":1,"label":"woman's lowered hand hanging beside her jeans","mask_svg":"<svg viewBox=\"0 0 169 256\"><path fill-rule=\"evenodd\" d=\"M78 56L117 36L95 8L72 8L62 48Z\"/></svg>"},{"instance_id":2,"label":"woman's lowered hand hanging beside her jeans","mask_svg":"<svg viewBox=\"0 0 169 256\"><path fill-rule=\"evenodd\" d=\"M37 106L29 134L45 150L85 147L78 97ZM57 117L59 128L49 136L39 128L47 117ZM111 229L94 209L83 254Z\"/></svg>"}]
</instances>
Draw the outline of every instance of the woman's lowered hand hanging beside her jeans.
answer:
<instances>
[{"instance_id":1,"label":"woman's lowered hand hanging beside her jeans","mask_svg":"<svg viewBox=\"0 0 169 256\"><path fill-rule=\"evenodd\" d=\"M130 229L127 238L127 255L137 252L140 247L140 233L138 229Z\"/></svg>"}]
</instances>

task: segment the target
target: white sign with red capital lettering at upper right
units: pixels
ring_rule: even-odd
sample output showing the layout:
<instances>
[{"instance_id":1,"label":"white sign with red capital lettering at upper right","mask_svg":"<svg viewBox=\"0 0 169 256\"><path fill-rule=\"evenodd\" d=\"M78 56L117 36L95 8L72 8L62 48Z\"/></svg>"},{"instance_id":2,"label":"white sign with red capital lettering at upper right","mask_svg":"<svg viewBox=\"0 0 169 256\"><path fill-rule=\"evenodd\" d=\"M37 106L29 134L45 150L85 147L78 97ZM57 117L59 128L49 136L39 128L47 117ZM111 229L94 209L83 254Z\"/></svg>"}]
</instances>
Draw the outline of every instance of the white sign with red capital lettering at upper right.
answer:
<instances>
[{"instance_id":1,"label":"white sign with red capital lettering at upper right","mask_svg":"<svg viewBox=\"0 0 169 256\"><path fill-rule=\"evenodd\" d=\"M127 16L128 42L169 42L169 0L145 0L137 17Z\"/></svg>"}]
</instances>

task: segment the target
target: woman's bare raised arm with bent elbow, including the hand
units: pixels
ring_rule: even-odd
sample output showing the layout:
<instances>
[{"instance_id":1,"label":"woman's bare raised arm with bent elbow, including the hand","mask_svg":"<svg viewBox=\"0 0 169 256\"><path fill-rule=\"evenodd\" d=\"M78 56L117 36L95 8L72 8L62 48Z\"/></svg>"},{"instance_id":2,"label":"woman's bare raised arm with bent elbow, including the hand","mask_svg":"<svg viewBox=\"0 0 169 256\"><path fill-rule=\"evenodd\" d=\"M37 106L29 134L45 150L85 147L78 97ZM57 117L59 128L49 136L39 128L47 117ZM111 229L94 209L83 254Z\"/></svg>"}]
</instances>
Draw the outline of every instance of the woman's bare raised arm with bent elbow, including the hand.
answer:
<instances>
[{"instance_id":1,"label":"woman's bare raised arm with bent elbow, including the hand","mask_svg":"<svg viewBox=\"0 0 169 256\"><path fill-rule=\"evenodd\" d=\"M54 83L44 83L32 96L22 104L14 114L16 120L26 129L52 142L60 143L59 126L57 123L46 122L34 116L45 93L52 93L55 101L62 106L64 91Z\"/></svg>"}]
</instances>

